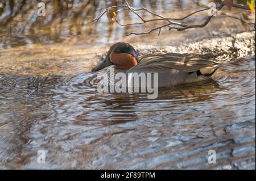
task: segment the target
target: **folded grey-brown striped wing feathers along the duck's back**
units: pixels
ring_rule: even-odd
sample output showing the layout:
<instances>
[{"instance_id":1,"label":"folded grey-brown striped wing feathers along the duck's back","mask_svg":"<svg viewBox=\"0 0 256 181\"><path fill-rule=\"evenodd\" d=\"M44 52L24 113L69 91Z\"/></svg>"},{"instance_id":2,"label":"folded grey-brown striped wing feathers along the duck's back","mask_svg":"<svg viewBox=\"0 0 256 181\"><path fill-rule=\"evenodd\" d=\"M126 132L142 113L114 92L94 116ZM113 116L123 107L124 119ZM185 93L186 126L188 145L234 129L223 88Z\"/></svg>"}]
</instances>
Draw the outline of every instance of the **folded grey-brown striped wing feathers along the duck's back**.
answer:
<instances>
[{"instance_id":1,"label":"folded grey-brown striped wing feathers along the duck's back","mask_svg":"<svg viewBox=\"0 0 256 181\"><path fill-rule=\"evenodd\" d=\"M166 70L176 69L185 72L213 71L223 61L217 61L213 54L196 54L196 53L155 53L139 57L135 69ZM208 70L209 69L209 70ZM206 74L205 73L205 74Z\"/></svg>"}]
</instances>

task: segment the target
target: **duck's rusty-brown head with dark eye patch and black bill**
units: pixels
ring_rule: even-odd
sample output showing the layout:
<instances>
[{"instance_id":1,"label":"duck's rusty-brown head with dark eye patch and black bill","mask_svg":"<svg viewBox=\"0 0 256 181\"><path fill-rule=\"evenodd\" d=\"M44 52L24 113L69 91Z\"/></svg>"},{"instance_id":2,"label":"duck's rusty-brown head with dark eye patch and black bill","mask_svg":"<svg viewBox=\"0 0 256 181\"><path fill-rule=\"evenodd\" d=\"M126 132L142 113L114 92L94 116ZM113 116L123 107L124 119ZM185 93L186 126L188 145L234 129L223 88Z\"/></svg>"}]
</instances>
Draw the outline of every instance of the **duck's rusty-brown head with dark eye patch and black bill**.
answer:
<instances>
[{"instance_id":1,"label":"duck's rusty-brown head with dark eye patch and black bill","mask_svg":"<svg viewBox=\"0 0 256 181\"><path fill-rule=\"evenodd\" d=\"M136 50L129 43L119 42L110 47L104 61L94 67L92 71L98 71L110 65L115 65L117 69L130 69L137 65L137 62Z\"/></svg>"}]
</instances>

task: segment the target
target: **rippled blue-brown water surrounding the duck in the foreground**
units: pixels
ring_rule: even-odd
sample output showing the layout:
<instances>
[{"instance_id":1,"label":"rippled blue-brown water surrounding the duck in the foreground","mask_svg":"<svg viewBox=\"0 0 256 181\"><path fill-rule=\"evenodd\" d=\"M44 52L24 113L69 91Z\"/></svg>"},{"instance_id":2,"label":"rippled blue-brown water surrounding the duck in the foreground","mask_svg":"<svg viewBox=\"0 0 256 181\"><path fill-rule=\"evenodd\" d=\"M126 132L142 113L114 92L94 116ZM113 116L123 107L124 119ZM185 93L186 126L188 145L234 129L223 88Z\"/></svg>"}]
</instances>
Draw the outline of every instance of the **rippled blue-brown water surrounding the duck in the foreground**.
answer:
<instances>
[{"instance_id":1,"label":"rippled blue-brown water surrounding the duck in the foreground","mask_svg":"<svg viewBox=\"0 0 256 181\"><path fill-rule=\"evenodd\" d=\"M4 43L1 169L255 169L255 56L151 100L97 92L89 70L106 49L82 42Z\"/></svg>"}]
</instances>

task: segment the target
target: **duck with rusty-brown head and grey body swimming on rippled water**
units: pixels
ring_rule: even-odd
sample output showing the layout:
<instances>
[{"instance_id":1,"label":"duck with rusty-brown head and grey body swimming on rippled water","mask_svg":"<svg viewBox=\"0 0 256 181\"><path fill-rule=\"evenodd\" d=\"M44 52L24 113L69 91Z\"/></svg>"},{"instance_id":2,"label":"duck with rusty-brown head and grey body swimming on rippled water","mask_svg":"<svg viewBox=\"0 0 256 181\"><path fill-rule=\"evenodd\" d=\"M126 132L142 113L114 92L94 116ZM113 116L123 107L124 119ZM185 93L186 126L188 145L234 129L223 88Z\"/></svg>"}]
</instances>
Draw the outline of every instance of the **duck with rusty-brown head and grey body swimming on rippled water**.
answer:
<instances>
[{"instance_id":1,"label":"duck with rusty-brown head and grey body swimming on rippled water","mask_svg":"<svg viewBox=\"0 0 256 181\"><path fill-rule=\"evenodd\" d=\"M115 73L158 73L159 87L176 86L212 77L226 62L216 57L211 53L151 53L139 56L131 44L118 42L110 47L104 60L91 71L109 67L114 68Z\"/></svg>"}]
</instances>

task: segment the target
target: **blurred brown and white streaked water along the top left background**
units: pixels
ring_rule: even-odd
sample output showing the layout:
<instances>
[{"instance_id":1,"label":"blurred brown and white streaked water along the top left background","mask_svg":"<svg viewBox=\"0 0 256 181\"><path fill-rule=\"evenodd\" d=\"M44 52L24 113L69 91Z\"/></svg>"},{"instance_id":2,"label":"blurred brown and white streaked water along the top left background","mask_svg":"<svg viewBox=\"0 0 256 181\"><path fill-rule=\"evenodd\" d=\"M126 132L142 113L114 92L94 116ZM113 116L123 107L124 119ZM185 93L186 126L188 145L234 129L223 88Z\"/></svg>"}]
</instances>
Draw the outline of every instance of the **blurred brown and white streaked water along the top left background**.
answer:
<instances>
[{"instance_id":1,"label":"blurred brown and white streaked water along the top left background","mask_svg":"<svg viewBox=\"0 0 256 181\"><path fill-rule=\"evenodd\" d=\"M11 3L13 2L13 3ZM38 1L3 1L0 8L0 49L35 43L53 44L58 42L82 44L98 47L112 44L136 27L119 27L103 16L100 22L88 25L98 17L106 7L121 6L125 1L42 1L46 3L46 16L38 16ZM203 1L207 4L208 1ZM160 14L175 14L179 11L191 11L202 7L188 0L150 1L130 0L131 6L146 7ZM0 6L1 7L1 6ZM152 18L145 12L143 17ZM130 11L120 12L118 19L125 24L138 21ZM151 24L155 24L153 22Z\"/></svg>"}]
</instances>

